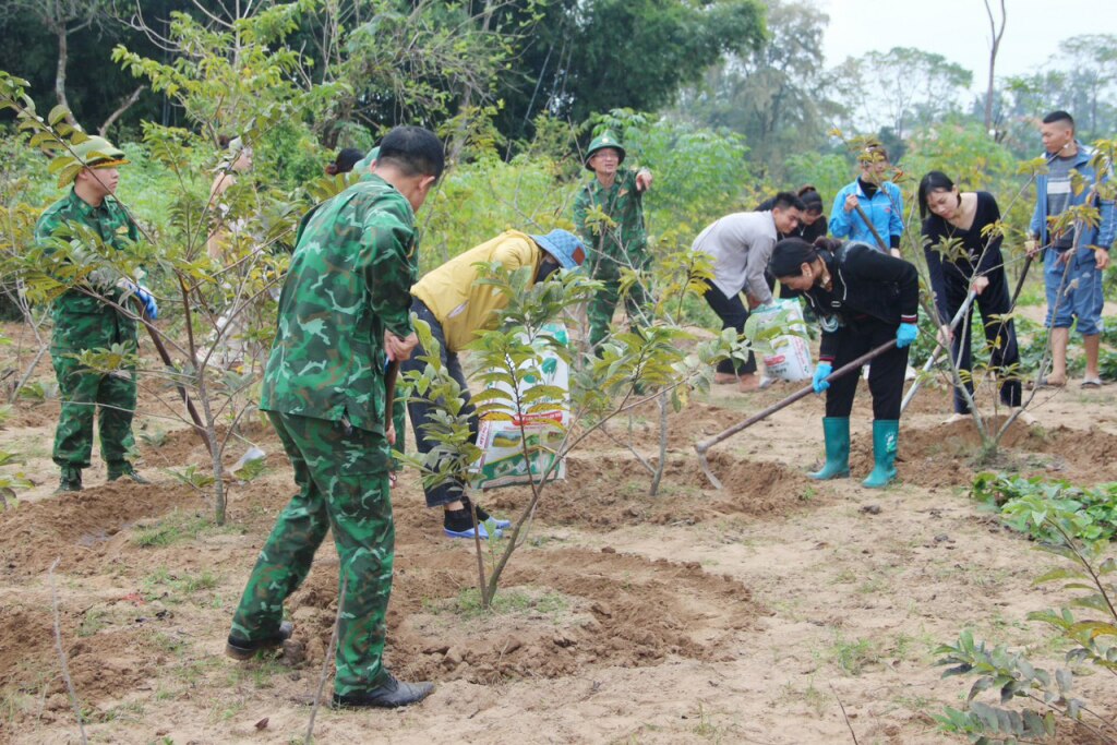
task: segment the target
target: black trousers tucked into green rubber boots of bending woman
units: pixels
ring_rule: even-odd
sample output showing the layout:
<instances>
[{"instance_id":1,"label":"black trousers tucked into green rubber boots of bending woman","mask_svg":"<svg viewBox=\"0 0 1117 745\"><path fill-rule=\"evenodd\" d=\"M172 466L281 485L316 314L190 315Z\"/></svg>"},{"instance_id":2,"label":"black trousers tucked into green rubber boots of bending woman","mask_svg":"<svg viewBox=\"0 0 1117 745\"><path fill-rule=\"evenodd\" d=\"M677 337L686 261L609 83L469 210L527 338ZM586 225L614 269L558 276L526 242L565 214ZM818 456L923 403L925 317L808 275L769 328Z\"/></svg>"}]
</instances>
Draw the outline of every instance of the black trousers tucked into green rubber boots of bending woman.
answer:
<instances>
[{"instance_id":1,"label":"black trousers tucked into green rubber boots of bending woman","mask_svg":"<svg viewBox=\"0 0 1117 745\"><path fill-rule=\"evenodd\" d=\"M848 322L838 329L834 370L896 338L897 328L896 324L887 324L872 317ZM869 392L872 393L873 419L900 418L904 373L907 372L909 348L905 346L899 350L894 346L869 364ZM857 383L860 380L861 375L858 371L853 371L830 383L830 388L827 389L827 417L849 417L849 412L853 410L853 397L857 394Z\"/></svg>"}]
</instances>

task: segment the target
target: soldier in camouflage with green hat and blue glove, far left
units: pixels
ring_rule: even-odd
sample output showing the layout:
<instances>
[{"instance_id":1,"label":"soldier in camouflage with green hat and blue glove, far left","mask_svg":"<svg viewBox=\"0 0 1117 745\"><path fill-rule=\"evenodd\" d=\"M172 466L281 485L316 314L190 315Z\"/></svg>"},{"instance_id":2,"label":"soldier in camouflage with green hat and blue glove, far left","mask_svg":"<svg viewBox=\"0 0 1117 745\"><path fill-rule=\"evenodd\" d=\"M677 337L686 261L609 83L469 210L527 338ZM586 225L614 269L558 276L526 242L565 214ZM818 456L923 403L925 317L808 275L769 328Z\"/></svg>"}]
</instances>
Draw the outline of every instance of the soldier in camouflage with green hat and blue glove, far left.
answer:
<instances>
[{"instance_id":1,"label":"soldier in camouflage with green hat and blue glove, far left","mask_svg":"<svg viewBox=\"0 0 1117 745\"><path fill-rule=\"evenodd\" d=\"M104 137L88 137L73 147L73 155L85 168L74 175L70 192L39 217L35 226L36 242L49 252L55 247L68 246L79 235L76 231L84 228L95 232L106 247L130 250L140 239L140 230L113 197L120 182L116 168L127 163L124 153ZM96 249L73 248L88 252ZM135 370L98 373L79 364L74 356L113 344L135 351L135 319L101 299L123 306L133 296L144 304L147 315L154 319L159 309L151 293L118 276L115 280L103 279L99 271L95 271L87 283L63 293L51 305L50 357L61 399L52 456L61 469L58 493L82 488L82 469L89 467L93 453L95 411L99 411L101 457L108 466L108 480L126 477L147 483L127 460L135 447L132 439Z\"/></svg>"}]
</instances>

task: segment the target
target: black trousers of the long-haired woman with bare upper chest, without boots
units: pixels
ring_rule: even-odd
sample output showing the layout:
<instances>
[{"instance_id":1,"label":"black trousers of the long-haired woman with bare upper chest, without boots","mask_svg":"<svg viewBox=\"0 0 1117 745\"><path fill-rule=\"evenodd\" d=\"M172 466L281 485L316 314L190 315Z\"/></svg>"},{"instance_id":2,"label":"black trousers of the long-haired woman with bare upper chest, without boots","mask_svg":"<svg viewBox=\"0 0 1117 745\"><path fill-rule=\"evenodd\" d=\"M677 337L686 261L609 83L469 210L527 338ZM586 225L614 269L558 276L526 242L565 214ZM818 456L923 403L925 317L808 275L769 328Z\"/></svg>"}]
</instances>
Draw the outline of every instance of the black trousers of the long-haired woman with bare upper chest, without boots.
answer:
<instances>
[{"instance_id":1,"label":"black trousers of the long-haired woman with bare upper chest, without boots","mask_svg":"<svg viewBox=\"0 0 1117 745\"><path fill-rule=\"evenodd\" d=\"M1020 384L1019 370L1014 369L1020 362L1020 350L1016 346L1016 331L1012 321L994 321L993 316L1003 315L1009 312L1012 303L1009 296L1009 280L1004 276L1004 269L999 269L987 275L989 287L986 287L974 304L981 312L982 326L985 328L985 343L990 347L990 365L996 372L1001 381L1001 403L1006 407L1019 407L1023 394ZM951 323L954 314L958 312L966 300L970 292L970 283L964 277L949 273L944 277L946 283L946 305L949 312L948 318L942 318L943 323ZM971 319L973 318L973 305L966 312L966 317L958 322L954 329L954 341L951 343L951 355L958 363L960 371L970 372L973 370L973 351L971 340ZM1005 369L1009 372L1005 372ZM971 397L974 392L973 381L970 375L963 375L966 390ZM954 391L954 411L957 413L968 413L970 408L961 391Z\"/></svg>"}]
</instances>

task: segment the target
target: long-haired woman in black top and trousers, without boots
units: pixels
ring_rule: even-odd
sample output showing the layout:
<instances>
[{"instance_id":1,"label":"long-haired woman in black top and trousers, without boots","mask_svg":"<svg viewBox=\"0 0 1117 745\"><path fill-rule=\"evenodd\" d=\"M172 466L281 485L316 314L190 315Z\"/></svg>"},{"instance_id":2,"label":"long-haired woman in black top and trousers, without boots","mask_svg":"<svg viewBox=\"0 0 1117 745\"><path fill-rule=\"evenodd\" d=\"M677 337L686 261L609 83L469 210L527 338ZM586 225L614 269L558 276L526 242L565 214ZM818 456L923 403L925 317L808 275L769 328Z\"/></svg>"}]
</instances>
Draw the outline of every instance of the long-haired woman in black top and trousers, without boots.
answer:
<instances>
[{"instance_id":1,"label":"long-haired woman in black top and trousers, without boots","mask_svg":"<svg viewBox=\"0 0 1117 745\"><path fill-rule=\"evenodd\" d=\"M973 355L970 328L973 306L966 311L954 332L951 319L965 303L970 289L977 294L985 341L990 346L991 366L1001 381L1001 402L1010 408L1020 405L1021 385L1015 371L1020 362L1016 332L1012 319L995 319L1008 314L1012 300L1004 276L1001 256L1001 232L996 223L1001 209L986 191L960 192L941 171L932 171L919 182L919 217L923 219L923 250L927 257L930 288L938 308L939 343L951 345L964 385L973 395L971 380ZM954 414L947 421L965 417L970 411L962 391L954 392ZM1020 414L1032 420L1027 412Z\"/></svg>"}]
</instances>

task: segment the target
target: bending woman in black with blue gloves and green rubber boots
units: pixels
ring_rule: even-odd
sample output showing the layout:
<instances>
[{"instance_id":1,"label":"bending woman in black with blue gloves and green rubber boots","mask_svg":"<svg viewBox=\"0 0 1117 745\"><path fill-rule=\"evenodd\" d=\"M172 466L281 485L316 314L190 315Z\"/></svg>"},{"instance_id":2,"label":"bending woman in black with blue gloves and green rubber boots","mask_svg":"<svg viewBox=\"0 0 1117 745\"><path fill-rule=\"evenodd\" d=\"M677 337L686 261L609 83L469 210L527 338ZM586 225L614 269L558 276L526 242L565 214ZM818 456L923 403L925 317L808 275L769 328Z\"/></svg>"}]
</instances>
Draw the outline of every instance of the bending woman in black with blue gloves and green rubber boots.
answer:
<instances>
[{"instance_id":1,"label":"bending woman in black with blue gloves and green rubber boots","mask_svg":"<svg viewBox=\"0 0 1117 745\"><path fill-rule=\"evenodd\" d=\"M866 243L820 238L813 245L786 238L775 245L768 269L784 286L802 293L819 316L822 345L814 369L814 392L827 391L827 462L811 478L849 476L849 414L859 375L825 379L866 352L896 340L869 370L872 393L872 472L861 484L884 488L896 478L896 441L908 346L918 334L919 275L903 259Z\"/></svg>"}]
</instances>

